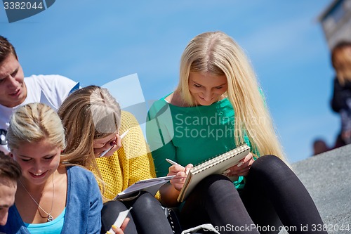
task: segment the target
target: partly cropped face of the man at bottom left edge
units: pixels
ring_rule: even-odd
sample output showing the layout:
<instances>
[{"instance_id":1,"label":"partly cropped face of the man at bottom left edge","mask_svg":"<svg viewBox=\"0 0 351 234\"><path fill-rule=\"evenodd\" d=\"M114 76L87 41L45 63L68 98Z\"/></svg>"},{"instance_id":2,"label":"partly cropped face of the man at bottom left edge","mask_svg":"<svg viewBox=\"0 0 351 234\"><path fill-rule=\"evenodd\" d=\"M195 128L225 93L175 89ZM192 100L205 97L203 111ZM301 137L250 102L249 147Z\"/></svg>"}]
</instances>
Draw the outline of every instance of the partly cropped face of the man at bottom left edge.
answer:
<instances>
[{"instance_id":1,"label":"partly cropped face of the man at bottom left edge","mask_svg":"<svg viewBox=\"0 0 351 234\"><path fill-rule=\"evenodd\" d=\"M15 203L17 183L8 178L0 178L0 225L5 225L8 209Z\"/></svg>"}]
</instances>

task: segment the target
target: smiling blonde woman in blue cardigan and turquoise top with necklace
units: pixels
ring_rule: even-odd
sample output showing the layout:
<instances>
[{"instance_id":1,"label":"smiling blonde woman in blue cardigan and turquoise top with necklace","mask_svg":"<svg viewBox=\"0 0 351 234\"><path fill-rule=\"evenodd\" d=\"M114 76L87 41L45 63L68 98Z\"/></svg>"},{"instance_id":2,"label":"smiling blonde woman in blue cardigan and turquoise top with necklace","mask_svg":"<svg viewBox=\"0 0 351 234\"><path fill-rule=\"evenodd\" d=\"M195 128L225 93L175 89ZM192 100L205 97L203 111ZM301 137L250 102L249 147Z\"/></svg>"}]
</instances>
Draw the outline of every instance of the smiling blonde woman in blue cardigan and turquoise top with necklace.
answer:
<instances>
[{"instance_id":1,"label":"smiling blonde woman in blue cardigan and turquoise top with necklace","mask_svg":"<svg viewBox=\"0 0 351 234\"><path fill-rule=\"evenodd\" d=\"M65 131L47 105L13 113L6 135L22 176L2 233L100 233L102 199L91 171L60 162Z\"/></svg>"}]
</instances>

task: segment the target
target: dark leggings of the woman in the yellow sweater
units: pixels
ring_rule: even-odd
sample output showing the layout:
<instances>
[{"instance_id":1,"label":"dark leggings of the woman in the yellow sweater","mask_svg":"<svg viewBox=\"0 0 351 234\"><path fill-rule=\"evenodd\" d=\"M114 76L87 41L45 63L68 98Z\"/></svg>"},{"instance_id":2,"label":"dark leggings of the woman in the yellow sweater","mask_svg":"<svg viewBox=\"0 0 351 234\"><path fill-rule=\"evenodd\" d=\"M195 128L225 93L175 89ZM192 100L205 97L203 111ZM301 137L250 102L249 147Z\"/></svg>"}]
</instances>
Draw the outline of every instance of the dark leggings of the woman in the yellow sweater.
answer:
<instances>
[{"instance_id":1,"label":"dark leggings of the woman in the yellow sweater","mask_svg":"<svg viewBox=\"0 0 351 234\"><path fill-rule=\"evenodd\" d=\"M173 234L161 204L150 193L142 193L138 198L127 202L105 202L101 210L101 233L110 230L119 212L129 207L133 209L128 214L131 220L124 230L125 234Z\"/></svg>"}]
</instances>

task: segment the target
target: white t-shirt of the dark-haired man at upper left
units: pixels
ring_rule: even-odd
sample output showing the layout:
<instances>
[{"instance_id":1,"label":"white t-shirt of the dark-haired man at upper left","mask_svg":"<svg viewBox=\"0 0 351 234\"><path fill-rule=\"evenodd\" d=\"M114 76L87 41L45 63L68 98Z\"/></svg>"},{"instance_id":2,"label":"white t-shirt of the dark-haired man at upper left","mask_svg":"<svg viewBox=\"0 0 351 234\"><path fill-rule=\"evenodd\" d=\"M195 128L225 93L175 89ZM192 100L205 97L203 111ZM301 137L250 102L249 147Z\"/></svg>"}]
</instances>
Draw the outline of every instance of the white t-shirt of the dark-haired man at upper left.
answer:
<instances>
[{"instance_id":1,"label":"white t-shirt of the dark-haired man at upper left","mask_svg":"<svg viewBox=\"0 0 351 234\"><path fill-rule=\"evenodd\" d=\"M69 93L79 89L79 82L74 82L72 79L62 77L58 74L40 74L25 77L25 85L27 86L27 98L23 103L14 108L0 105L0 150L4 151L6 154L9 151L5 136L10 117L13 112L15 112L16 108L28 103L45 103L57 110Z\"/></svg>"}]
</instances>

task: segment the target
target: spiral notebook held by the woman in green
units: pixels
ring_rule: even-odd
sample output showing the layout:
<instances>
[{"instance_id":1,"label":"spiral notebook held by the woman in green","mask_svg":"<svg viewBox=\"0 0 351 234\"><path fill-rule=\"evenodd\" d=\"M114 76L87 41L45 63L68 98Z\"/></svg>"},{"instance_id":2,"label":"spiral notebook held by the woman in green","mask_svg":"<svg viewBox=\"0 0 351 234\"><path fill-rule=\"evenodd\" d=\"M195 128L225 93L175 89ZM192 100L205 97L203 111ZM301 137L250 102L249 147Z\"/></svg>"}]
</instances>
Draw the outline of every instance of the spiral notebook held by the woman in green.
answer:
<instances>
[{"instance_id":1,"label":"spiral notebook held by the woman in green","mask_svg":"<svg viewBox=\"0 0 351 234\"><path fill-rule=\"evenodd\" d=\"M249 145L240 145L233 150L225 152L221 155L206 160L201 164L190 169L185 179L184 186L180 190L178 196L178 202L183 202L185 198L192 192L193 188L199 183L203 178L211 174L223 174L223 171L239 163L241 159L249 155L250 147ZM237 177L230 177L232 181L236 181Z\"/></svg>"}]
</instances>

